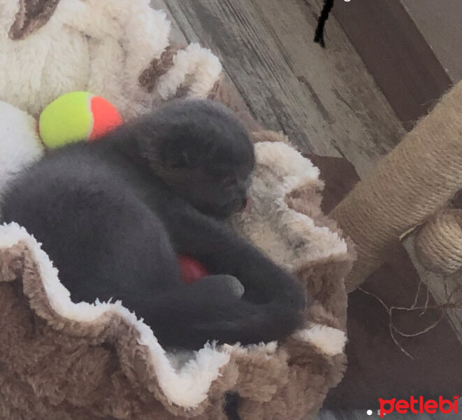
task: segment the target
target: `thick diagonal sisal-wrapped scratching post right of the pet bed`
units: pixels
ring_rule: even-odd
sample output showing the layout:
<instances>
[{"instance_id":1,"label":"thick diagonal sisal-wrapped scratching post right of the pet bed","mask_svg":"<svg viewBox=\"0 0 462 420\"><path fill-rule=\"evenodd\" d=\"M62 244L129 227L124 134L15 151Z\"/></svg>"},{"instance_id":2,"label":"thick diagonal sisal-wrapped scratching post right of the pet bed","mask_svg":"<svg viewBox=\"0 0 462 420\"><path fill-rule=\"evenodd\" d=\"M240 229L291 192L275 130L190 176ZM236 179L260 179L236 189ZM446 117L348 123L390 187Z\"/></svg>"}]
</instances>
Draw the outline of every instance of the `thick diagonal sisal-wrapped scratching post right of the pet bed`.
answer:
<instances>
[{"instance_id":1,"label":"thick diagonal sisal-wrapped scratching post right of the pet bed","mask_svg":"<svg viewBox=\"0 0 462 420\"><path fill-rule=\"evenodd\" d=\"M331 216L356 243L358 258L346 280L359 286L401 235L430 218L462 186L462 83L406 134Z\"/></svg>"}]
</instances>

